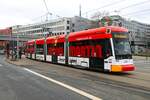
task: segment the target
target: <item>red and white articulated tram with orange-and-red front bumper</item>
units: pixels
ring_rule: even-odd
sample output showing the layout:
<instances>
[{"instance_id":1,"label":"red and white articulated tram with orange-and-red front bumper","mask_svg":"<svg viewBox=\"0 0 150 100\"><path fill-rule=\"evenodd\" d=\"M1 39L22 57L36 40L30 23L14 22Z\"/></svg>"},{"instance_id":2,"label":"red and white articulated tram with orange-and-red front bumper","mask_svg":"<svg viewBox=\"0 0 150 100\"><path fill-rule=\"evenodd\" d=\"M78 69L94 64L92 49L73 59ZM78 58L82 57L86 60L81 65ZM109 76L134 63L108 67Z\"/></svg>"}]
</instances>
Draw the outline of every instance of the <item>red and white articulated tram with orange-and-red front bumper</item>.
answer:
<instances>
[{"instance_id":1,"label":"red and white articulated tram with orange-and-red front bumper","mask_svg":"<svg viewBox=\"0 0 150 100\"><path fill-rule=\"evenodd\" d=\"M135 69L128 30L123 27L108 26L32 40L27 43L27 57L109 72Z\"/></svg>"}]
</instances>

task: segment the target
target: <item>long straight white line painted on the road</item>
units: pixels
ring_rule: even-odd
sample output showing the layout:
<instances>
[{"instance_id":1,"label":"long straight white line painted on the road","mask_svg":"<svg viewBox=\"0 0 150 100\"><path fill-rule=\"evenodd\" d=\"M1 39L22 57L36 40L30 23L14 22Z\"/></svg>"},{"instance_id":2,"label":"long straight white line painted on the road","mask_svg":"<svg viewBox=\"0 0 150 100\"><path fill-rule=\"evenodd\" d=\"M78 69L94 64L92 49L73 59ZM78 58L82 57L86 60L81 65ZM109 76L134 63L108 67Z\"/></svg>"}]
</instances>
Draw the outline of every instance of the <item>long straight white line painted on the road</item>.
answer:
<instances>
[{"instance_id":1,"label":"long straight white line painted on the road","mask_svg":"<svg viewBox=\"0 0 150 100\"><path fill-rule=\"evenodd\" d=\"M82 95L82 96L85 96L85 97L87 97L87 98L89 98L89 99L91 99L91 100L102 100L102 99L99 98L99 97L96 97L96 96L94 96L94 95L91 95L91 94L89 94L89 93L87 93L87 92L84 92L84 91L82 91L82 90L80 90L80 89L77 89L77 88L75 88L75 87L72 87L72 86L70 86L70 85L64 84L64 83L62 83L62 82L60 82L60 81L54 80L54 79L52 79L52 78L50 78L50 77L46 77L46 76L44 76L44 75L42 75L42 74L39 74L39 73L37 73L37 72L34 72L34 71L28 69L28 68L24 68L24 70L26 70L26 71L28 71L28 72L30 72L30 73L32 73L32 74L35 74L35 75L37 75L37 76L39 76L39 77L42 77L42 78L44 78L44 79L46 79L46 80L48 80L48 81L51 81L51 82L53 82L53 83L55 83L55 84L58 84L58 85L60 85L60 86L63 86L63 87L65 87L65 88L69 89L69 90L72 90L72 91L74 91L74 92L76 92L76 93L78 93L78 94L80 94L80 95Z\"/></svg>"}]
</instances>

